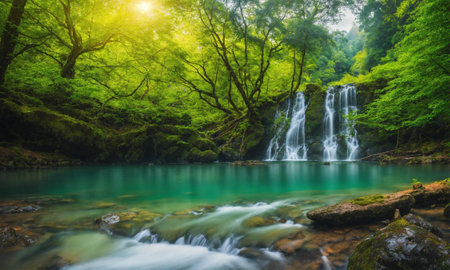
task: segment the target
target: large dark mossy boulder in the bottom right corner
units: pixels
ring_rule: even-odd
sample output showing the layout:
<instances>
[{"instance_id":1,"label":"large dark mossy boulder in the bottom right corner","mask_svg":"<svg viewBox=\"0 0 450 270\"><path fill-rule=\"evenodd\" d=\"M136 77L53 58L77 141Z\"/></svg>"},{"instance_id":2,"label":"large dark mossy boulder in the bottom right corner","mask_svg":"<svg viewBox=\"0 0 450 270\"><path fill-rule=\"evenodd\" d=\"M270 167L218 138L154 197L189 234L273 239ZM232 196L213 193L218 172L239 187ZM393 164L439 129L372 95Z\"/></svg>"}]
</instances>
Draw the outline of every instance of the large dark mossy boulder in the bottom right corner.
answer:
<instances>
[{"instance_id":1,"label":"large dark mossy boulder in the bottom right corner","mask_svg":"<svg viewBox=\"0 0 450 270\"><path fill-rule=\"evenodd\" d=\"M447 242L401 218L361 242L348 270L450 269L449 252Z\"/></svg>"}]
</instances>

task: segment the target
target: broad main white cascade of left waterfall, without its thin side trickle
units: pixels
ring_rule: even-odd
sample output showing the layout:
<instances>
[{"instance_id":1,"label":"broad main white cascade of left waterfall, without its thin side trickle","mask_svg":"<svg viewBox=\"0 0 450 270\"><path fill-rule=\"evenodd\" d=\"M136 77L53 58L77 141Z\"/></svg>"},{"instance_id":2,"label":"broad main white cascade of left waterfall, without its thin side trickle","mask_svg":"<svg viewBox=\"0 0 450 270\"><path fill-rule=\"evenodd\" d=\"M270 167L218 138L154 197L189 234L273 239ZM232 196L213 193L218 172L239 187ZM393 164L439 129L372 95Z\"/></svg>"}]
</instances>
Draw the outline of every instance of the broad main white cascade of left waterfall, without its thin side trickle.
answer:
<instances>
[{"instance_id":1,"label":"broad main white cascade of left waterfall, without its thin side trickle","mask_svg":"<svg viewBox=\"0 0 450 270\"><path fill-rule=\"evenodd\" d=\"M289 130L286 133L285 160L307 160L306 141L305 141L305 95L302 92L297 93L295 104L292 108L292 119ZM299 155L301 152L301 155Z\"/></svg>"}]
</instances>

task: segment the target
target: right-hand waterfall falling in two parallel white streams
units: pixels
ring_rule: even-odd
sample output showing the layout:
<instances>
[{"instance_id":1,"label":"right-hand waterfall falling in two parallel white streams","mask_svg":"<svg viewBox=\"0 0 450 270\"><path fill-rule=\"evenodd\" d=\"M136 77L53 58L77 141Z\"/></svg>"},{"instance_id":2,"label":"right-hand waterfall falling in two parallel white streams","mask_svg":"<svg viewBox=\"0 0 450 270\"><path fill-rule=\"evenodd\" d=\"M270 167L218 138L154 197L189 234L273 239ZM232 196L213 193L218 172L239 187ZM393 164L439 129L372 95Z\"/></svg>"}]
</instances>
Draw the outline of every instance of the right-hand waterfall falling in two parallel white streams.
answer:
<instances>
[{"instance_id":1,"label":"right-hand waterfall falling in two parallel white streams","mask_svg":"<svg viewBox=\"0 0 450 270\"><path fill-rule=\"evenodd\" d=\"M338 102L335 104L336 94ZM336 107L337 105L337 107ZM354 85L344 85L342 87L330 87L327 90L325 98L324 115L324 140L323 140L323 159L325 161L338 160L338 136L344 138L347 149L344 160L355 160L358 156L359 143L357 131L353 120L349 120L351 113L356 113L356 88ZM339 117L335 117L336 114ZM335 124L338 125L335 125ZM337 129L336 127L339 127ZM336 132L338 132L336 134Z\"/></svg>"}]
</instances>

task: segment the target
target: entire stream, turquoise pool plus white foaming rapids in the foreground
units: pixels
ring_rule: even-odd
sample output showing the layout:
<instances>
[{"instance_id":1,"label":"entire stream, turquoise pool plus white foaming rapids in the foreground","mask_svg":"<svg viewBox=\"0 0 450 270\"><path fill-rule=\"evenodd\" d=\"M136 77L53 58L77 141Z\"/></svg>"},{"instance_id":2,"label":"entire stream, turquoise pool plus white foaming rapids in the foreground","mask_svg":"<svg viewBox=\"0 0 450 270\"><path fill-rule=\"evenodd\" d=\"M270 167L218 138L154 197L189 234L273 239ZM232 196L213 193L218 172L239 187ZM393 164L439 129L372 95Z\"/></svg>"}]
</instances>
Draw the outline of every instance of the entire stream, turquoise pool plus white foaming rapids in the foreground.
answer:
<instances>
[{"instance_id":1,"label":"entire stream, turquoise pool plus white foaming rapids in the foreground","mask_svg":"<svg viewBox=\"0 0 450 270\"><path fill-rule=\"evenodd\" d=\"M38 230L41 239L0 260L5 269L283 269L290 261L274 248L279 239L298 233L316 239L307 211L401 190L412 178L445 177L448 166L348 162L0 172L3 200L46 202L17 220L2 216ZM100 217L119 227L98 227ZM323 269L332 264L319 249L306 254Z\"/></svg>"}]
</instances>

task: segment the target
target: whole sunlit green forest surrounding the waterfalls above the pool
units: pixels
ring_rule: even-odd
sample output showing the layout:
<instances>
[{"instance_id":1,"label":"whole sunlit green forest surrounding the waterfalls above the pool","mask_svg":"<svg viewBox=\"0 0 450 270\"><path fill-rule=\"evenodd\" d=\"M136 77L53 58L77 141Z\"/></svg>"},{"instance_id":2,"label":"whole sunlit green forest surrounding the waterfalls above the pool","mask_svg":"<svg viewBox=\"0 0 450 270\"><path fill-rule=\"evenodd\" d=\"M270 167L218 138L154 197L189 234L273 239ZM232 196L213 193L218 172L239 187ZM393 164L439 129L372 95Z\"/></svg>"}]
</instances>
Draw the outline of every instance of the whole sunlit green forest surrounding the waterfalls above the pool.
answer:
<instances>
[{"instance_id":1,"label":"whole sunlit green forest surrounding the waterfalls above the pool","mask_svg":"<svg viewBox=\"0 0 450 270\"><path fill-rule=\"evenodd\" d=\"M449 149L446 1L0 5L0 140L17 159L251 158L274 106L347 83L367 96L356 124L384 145L367 154ZM343 10L358 25L329 30Z\"/></svg>"}]
</instances>

